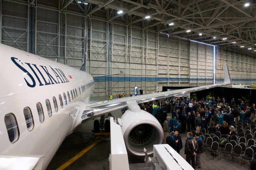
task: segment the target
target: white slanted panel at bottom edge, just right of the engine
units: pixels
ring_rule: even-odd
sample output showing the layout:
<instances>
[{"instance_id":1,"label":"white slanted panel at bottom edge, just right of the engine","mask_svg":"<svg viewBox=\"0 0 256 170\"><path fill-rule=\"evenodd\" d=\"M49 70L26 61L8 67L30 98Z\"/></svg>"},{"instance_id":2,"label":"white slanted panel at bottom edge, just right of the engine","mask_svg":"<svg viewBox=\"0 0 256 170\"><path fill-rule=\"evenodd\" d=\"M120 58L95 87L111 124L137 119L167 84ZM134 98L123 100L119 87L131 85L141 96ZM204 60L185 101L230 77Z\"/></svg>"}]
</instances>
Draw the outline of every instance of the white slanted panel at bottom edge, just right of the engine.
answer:
<instances>
[{"instance_id":1,"label":"white slanted panel at bottom edge, just right of the engine","mask_svg":"<svg viewBox=\"0 0 256 170\"><path fill-rule=\"evenodd\" d=\"M154 157L157 158L159 166L162 166L166 170L194 170L194 168L168 144L155 144L153 154Z\"/></svg>"}]
</instances>

